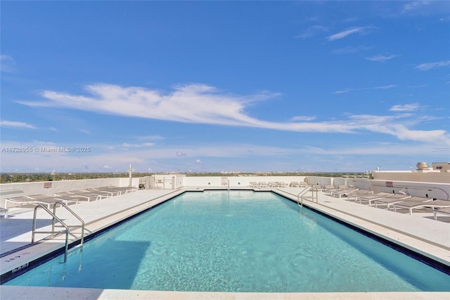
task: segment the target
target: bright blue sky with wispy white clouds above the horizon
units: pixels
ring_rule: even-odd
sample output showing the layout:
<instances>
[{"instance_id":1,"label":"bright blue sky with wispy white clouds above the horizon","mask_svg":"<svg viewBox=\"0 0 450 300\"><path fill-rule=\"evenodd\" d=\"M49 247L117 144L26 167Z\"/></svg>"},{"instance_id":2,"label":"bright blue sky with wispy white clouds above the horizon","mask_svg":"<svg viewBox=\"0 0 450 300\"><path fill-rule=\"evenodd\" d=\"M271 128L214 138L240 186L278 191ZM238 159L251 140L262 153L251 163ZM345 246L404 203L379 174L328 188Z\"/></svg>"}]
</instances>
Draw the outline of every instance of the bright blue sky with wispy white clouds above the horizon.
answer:
<instances>
[{"instance_id":1,"label":"bright blue sky with wispy white clouds above the horizon","mask_svg":"<svg viewBox=\"0 0 450 300\"><path fill-rule=\"evenodd\" d=\"M1 1L1 172L450 161L449 50L449 1Z\"/></svg>"}]
</instances>

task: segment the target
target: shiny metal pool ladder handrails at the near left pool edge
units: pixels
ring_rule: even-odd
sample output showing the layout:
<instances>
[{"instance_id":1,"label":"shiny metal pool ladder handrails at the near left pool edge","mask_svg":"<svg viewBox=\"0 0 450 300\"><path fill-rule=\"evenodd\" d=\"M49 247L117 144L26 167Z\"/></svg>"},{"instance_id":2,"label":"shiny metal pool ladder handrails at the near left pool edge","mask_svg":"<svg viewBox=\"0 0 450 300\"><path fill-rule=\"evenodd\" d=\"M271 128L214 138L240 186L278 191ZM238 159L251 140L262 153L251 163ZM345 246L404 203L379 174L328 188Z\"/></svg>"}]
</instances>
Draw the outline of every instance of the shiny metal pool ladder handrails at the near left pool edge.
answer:
<instances>
[{"instance_id":1,"label":"shiny metal pool ladder handrails at the near left pool edge","mask_svg":"<svg viewBox=\"0 0 450 300\"><path fill-rule=\"evenodd\" d=\"M56 216L56 206L57 204L60 204L61 207L64 207L65 209L67 209L70 213L72 213L72 215L75 216L75 218L77 218L80 222L81 225L67 225L63 222L63 220L61 220L60 218L58 218ZM44 208L44 211L46 211L47 213L49 213L49 215L51 215L51 217L53 218L51 220L51 230L43 230L43 231L37 231L36 230L36 220L37 220L37 208ZM56 221L58 221L60 223L60 225L55 225ZM55 227L64 227L65 230L63 231L58 231L55 230ZM68 249L69 249L69 235L70 235L70 228L80 228L82 229L82 237L81 237L81 241L80 241L80 251L83 251L83 242L84 242L84 220L82 220L82 218L79 218L79 216L74 213L70 208L68 208L67 205L65 205L63 202L58 201L55 204L53 204L53 212L51 212L49 210L49 208L46 208L45 206L43 206L42 204L39 204L37 206L34 207L34 215L33 215L33 229L32 229L32 236L31 236L31 243L34 243L34 234L36 233L51 233L51 236L53 237L55 234L57 233L62 233L65 232L65 250L64 250L64 261L63 263L65 263L68 260Z\"/></svg>"}]
</instances>

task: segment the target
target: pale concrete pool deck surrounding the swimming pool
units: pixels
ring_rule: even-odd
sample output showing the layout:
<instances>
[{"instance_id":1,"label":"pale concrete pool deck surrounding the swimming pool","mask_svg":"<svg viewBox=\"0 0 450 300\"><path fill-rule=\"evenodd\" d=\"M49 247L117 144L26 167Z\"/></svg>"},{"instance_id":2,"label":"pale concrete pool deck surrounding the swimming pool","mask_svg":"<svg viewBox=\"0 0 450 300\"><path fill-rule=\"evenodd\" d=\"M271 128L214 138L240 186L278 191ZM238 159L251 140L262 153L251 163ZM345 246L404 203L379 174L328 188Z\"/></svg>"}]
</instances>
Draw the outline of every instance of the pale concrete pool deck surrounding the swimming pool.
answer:
<instances>
[{"instance_id":1,"label":"pale concrete pool deck surrounding the swimming pool","mask_svg":"<svg viewBox=\"0 0 450 300\"><path fill-rule=\"evenodd\" d=\"M224 189L208 187L208 189ZM242 187L240 187L242 189ZM108 199L71 205L84 222L85 235L95 232L171 199L185 191L201 191L203 187L189 187L176 190L139 190L137 192L113 196ZM265 189L264 189L265 190ZM301 188L279 187L274 192L297 201ZM304 205L332 215L355 227L400 244L432 258L446 268L450 268L450 216L438 215L433 219L432 211L387 211L354 201L326 196L319 192L316 202L304 201ZM302 209L299 208L301 213ZM68 211L58 208L58 217L68 225L79 221ZM39 230L49 230L51 217L39 210L37 225ZM37 234L39 242L30 245L33 210L32 208L11 208L9 218L0 219L0 270L1 274L20 269L35 259L50 254L64 246L65 237L58 235L49 239L48 235ZM79 229L71 231L70 242L81 237ZM72 250L76 251L76 250ZM450 282L449 282L450 285ZM450 299L448 292L383 292L383 293L209 293L209 292L158 292L116 289L75 289L54 287L9 287L0 286L1 299Z\"/></svg>"}]
</instances>

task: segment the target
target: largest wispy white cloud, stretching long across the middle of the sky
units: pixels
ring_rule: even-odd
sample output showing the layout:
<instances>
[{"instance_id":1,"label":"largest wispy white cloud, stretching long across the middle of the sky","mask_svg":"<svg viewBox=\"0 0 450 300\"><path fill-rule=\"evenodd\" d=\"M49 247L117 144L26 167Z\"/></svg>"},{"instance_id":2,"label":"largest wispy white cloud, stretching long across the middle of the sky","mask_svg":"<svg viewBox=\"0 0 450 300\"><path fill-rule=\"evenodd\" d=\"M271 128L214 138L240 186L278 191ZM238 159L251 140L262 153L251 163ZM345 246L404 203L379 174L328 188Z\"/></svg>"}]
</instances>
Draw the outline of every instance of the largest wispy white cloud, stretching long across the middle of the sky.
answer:
<instances>
[{"instance_id":1,"label":"largest wispy white cloud, stretching long across the middle of the sky","mask_svg":"<svg viewBox=\"0 0 450 300\"><path fill-rule=\"evenodd\" d=\"M397 85L371 87L368 89L390 89ZM341 132L356 133L360 130L383 132L399 139L418 140L416 136L442 137L444 130L409 130L409 121L401 116L361 116L353 115L345 120L312 122L312 117L294 117L286 123L269 122L250 117L245 113L253 101L269 99L275 93L264 92L248 96L220 93L206 85L185 85L176 87L173 92L161 92L143 87L120 87L117 85L90 85L86 88L91 96L72 95L46 91L42 96L46 101L20 101L27 106L60 106L96 113L124 115L127 117L171 120L182 123L201 123L240 127L258 127L270 130L293 132ZM297 120L296 120L297 118ZM356 122L357 120L357 122ZM368 121L370 120L370 122ZM299 122L300 121L300 122ZM411 134L415 132L417 135ZM430 135L427 135L427 132ZM176 156L186 156L177 151Z\"/></svg>"}]
</instances>

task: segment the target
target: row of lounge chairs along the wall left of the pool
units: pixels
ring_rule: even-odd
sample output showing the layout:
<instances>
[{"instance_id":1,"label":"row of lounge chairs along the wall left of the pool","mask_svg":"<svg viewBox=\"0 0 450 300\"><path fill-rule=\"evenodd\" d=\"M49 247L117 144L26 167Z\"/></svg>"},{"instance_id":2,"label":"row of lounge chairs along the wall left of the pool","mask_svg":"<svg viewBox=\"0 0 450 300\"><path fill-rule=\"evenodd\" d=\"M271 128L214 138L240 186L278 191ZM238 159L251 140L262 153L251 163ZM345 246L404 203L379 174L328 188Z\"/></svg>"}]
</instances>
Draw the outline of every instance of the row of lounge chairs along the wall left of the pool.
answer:
<instances>
[{"instance_id":1,"label":"row of lounge chairs along the wall left of the pool","mask_svg":"<svg viewBox=\"0 0 450 300\"><path fill-rule=\"evenodd\" d=\"M70 192L58 192L53 196L44 194L35 194L30 196L18 196L5 199L4 218L8 218L8 203L23 205L46 205L48 209L58 202L63 202L66 205L78 204L79 201L92 201L108 198L110 196L117 196L136 191L135 187L97 187L92 189L84 189Z\"/></svg>"}]
</instances>

